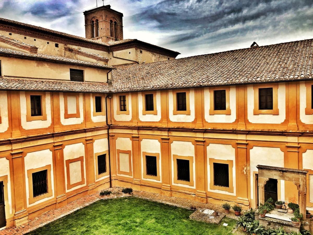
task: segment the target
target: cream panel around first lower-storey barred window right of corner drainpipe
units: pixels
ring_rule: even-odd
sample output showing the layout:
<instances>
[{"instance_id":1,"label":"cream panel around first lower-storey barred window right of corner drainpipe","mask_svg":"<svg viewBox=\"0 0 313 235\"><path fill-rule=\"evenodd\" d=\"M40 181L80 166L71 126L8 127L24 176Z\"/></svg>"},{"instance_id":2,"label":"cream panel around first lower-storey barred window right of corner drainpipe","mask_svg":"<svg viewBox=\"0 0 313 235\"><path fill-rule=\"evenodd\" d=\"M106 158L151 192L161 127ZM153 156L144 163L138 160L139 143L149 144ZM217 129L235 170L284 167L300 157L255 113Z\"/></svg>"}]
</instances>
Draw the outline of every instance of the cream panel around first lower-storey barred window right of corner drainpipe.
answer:
<instances>
[{"instance_id":1,"label":"cream panel around first lower-storey barred window right of corner drainpipe","mask_svg":"<svg viewBox=\"0 0 313 235\"><path fill-rule=\"evenodd\" d=\"M157 139L142 139L141 145L141 178L153 182L162 182L162 156L161 156L161 143ZM142 152L146 153L157 153L160 154L159 169L160 169L160 180L146 179L143 177L143 155Z\"/></svg>"}]
</instances>

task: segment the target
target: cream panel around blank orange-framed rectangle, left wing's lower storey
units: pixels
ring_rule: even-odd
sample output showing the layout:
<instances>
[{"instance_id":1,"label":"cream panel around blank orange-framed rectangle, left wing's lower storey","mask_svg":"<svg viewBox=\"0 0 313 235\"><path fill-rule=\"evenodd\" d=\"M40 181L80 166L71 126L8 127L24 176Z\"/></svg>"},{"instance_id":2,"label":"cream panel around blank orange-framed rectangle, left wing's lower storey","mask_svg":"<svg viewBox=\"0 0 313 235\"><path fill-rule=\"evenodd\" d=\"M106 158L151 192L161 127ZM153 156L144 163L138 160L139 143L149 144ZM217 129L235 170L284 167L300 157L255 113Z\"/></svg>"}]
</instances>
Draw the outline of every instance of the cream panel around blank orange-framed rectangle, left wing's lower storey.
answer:
<instances>
[{"instance_id":1,"label":"cream panel around blank orange-framed rectangle, left wing's lower storey","mask_svg":"<svg viewBox=\"0 0 313 235\"><path fill-rule=\"evenodd\" d=\"M74 159L79 158L81 156L84 157L84 176L85 176L85 184L77 185L71 189L65 189L65 192L70 192L76 189L79 189L83 186L86 186L86 157L85 157L85 145L83 143L77 143L77 144L68 144L63 149L63 155L64 155L64 172L65 172L65 185L67 185L67 170L66 170L66 160L68 159ZM79 168L80 169L80 168ZM69 177L71 178L71 177Z\"/></svg>"}]
</instances>

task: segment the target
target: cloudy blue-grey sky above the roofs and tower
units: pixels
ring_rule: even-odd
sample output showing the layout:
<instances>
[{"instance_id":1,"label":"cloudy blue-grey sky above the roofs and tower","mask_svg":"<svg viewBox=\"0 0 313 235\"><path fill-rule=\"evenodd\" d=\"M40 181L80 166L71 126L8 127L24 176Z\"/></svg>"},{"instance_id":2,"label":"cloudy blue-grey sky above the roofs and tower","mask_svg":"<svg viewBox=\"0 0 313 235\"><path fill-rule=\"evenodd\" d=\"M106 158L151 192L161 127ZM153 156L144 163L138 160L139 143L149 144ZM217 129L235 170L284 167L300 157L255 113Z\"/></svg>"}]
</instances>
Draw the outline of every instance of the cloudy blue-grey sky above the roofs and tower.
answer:
<instances>
[{"instance_id":1,"label":"cloudy blue-grey sky above the roofs and tower","mask_svg":"<svg viewBox=\"0 0 313 235\"><path fill-rule=\"evenodd\" d=\"M98 0L98 6L102 5ZM313 0L104 0L124 13L124 39L179 57L313 38ZM0 17L85 36L96 0L0 0Z\"/></svg>"}]
</instances>

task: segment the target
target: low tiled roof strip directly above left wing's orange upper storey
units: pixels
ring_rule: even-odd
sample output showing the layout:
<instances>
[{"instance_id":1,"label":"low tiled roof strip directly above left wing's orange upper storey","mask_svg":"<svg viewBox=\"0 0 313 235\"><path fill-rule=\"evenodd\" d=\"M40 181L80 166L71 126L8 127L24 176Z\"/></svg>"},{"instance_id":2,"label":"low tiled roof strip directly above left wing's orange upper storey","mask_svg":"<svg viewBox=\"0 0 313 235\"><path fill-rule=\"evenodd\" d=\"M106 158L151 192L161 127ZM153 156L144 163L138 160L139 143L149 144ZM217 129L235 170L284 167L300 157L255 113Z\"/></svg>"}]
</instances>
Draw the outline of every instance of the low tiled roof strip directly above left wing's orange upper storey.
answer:
<instances>
[{"instance_id":1,"label":"low tiled roof strip directly above left wing's orange upper storey","mask_svg":"<svg viewBox=\"0 0 313 235\"><path fill-rule=\"evenodd\" d=\"M105 82L0 78L0 90L108 92Z\"/></svg>"}]
</instances>

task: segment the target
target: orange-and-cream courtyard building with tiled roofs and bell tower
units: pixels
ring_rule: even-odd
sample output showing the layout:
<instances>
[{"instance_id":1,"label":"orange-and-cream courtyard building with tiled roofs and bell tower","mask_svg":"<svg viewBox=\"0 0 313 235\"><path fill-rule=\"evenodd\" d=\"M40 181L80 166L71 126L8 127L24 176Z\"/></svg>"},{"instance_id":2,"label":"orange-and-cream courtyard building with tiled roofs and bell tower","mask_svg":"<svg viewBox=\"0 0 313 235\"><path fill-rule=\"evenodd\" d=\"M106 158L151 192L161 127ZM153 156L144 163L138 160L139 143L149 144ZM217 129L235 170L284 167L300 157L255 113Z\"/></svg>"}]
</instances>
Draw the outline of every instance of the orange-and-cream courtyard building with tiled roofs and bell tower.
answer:
<instances>
[{"instance_id":1,"label":"orange-and-cream courtyard building with tiled roofs and bell tower","mask_svg":"<svg viewBox=\"0 0 313 235\"><path fill-rule=\"evenodd\" d=\"M313 210L313 39L175 59L84 15L85 38L0 18L0 229L110 186L256 208L257 165L308 171Z\"/></svg>"}]
</instances>

